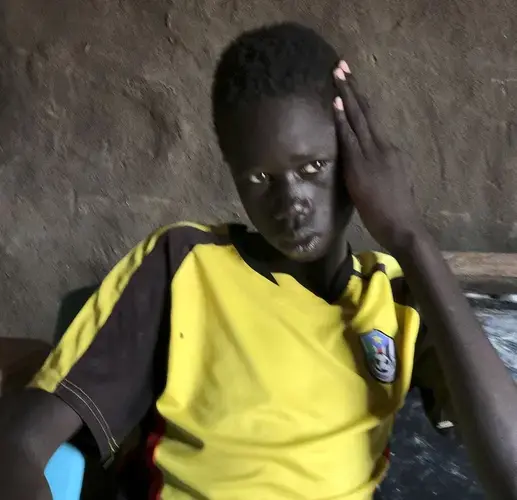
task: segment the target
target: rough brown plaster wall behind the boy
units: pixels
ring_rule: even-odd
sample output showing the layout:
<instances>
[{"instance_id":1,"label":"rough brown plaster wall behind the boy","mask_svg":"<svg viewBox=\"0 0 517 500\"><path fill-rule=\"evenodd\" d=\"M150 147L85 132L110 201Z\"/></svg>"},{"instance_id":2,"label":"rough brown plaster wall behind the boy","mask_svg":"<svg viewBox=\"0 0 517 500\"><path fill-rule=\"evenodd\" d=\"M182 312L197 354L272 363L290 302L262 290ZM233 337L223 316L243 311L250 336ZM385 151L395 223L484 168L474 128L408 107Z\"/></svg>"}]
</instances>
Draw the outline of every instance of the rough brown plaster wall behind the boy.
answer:
<instances>
[{"instance_id":1,"label":"rough brown plaster wall behind the boy","mask_svg":"<svg viewBox=\"0 0 517 500\"><path fill-rule=\"evenodd\" d=\"M346 56L444 249L516 250L516 14L511 0L2 0L1 334L50 339L61 296L160 224L242 216L210 79L233 36L275 20Z\"/></svg>"}]
</instances>

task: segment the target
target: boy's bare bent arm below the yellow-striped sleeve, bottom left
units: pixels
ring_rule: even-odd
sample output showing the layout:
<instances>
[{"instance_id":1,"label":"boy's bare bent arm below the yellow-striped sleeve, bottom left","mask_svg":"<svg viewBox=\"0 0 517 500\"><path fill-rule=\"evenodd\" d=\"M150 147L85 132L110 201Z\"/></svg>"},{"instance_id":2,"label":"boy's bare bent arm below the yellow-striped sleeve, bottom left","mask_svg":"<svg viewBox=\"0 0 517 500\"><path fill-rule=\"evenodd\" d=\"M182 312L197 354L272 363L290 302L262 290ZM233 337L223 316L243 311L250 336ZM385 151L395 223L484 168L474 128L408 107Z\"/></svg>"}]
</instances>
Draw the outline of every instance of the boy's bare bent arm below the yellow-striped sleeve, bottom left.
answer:
<instances>
[{"instance_id":1,"label":"boy's bare bent arm below the yellow-striped sleeve, bottom left","mask_svg":"<svg viewBox=\"0 0 517 500\"><path fill-rule=\"evenodd\" d=\"M45 391L0 398L0 498L50 500L45 466L81 426L70 406Z\"/></svg>"}]
</instances>

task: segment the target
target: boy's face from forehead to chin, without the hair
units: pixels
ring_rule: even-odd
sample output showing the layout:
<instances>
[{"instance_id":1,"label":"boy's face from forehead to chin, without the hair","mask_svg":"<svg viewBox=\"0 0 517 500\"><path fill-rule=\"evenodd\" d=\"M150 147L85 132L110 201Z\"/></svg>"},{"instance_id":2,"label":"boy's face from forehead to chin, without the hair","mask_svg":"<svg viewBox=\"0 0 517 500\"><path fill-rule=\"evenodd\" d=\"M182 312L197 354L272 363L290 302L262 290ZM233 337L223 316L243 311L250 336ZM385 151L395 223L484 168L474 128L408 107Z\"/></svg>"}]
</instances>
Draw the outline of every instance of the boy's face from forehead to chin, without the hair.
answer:
<instances>
[{"instance_id":1,"label":"boy's face from forehead to chin, without the hair","mask_svg":"<svg viewBox=\"0 0 517 500\"><path fill-rule=\"evenodd\" d=\"M325 255L351 215L332 108L263 99L225 120L225 157L257 230L288 258Z\"/></svg>"}]
</instances>

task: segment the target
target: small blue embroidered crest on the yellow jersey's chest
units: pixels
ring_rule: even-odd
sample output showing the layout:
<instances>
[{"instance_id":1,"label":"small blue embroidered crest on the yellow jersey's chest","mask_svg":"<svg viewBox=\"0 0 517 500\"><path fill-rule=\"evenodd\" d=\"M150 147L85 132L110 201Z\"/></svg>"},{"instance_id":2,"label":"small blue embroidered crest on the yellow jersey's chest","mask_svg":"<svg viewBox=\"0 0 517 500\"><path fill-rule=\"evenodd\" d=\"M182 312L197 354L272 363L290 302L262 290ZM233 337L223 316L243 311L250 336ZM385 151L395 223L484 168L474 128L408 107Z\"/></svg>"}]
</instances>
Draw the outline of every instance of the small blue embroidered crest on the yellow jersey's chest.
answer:
<instances>
[{"instance_id":1,"label":"small blue embroidered crest on the yellow jersey's chest","mask_svg":"<svg viewBox=\"0 0 517 500\"><path fill-rule=\"evenodd\" d=\"M360 338L370 373L380 382L393 382L397 372L397 355L393 339L379 330L372 330Z\"/></svg>"}]
</instances>

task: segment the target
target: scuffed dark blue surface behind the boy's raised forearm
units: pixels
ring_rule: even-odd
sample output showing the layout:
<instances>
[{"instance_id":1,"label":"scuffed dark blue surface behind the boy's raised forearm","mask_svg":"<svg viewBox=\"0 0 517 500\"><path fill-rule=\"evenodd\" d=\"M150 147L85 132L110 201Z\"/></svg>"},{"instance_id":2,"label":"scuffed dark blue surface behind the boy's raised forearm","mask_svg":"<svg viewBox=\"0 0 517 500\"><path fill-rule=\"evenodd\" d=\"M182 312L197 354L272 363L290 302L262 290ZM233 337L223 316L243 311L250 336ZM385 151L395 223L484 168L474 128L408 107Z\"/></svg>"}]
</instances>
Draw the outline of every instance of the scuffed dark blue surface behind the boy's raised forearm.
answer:
<instances>
[{"instance_id":1,"label":"scuffed dark blue surface behind the boy's raised forearm","mask_svg":"<svg viewBox=\"0 0 517 500\"><path fill-rule=\"evenodd\" d=\"M478 309L483 327L517 381L517 311ZM480 370L483 369L480 360ZM408 397L395 424L392 467L382 487L389 500L481 500L463 445L441 436L424 416L418 394Z\"/></svg>"}]
</instances>

